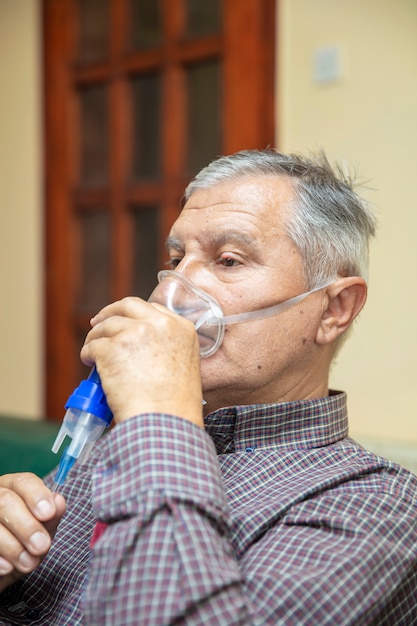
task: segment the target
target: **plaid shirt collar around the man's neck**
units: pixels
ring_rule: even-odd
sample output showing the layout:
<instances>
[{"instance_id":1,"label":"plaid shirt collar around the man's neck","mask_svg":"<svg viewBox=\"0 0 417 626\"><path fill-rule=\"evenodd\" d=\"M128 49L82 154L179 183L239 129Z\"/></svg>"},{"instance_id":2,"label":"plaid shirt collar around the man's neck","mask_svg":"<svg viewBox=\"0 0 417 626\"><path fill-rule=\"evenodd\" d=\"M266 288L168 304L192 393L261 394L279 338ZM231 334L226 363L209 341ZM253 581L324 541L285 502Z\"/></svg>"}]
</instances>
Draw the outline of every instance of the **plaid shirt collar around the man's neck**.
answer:
<instances>
[{"instance_id":1,"label":"plaid shirt collar around the man's neck","mask_svg":"<svg viewBox=\"0 0 417 626\"><path fill-rule=\"evenodd\" d=\"M346 394L218 409L206 416L205 426L217 454L269 446L318 448L347 436Z\"/></svg>"}]
</instances>

